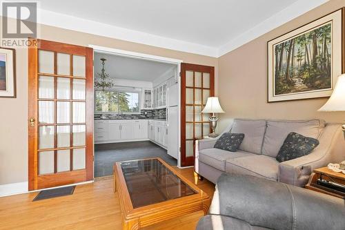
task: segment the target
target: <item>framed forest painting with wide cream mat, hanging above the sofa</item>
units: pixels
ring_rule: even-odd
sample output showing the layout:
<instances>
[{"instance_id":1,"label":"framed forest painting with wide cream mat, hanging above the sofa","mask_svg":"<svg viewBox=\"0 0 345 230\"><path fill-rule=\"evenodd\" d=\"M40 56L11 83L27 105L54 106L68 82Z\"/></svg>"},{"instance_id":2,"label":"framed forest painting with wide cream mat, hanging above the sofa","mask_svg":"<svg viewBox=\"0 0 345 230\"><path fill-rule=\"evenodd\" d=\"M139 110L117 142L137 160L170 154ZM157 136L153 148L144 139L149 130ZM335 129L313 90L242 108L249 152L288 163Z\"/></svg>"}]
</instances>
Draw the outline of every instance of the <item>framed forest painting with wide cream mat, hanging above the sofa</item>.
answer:
<instances>
[{"instance_id":1,"label":"framed forest painting with wide cream mat, hanging above the sofa","mask_svg":"<svg viewBox=\"0 0 345 230\"><path fill-rule=\"evenodd\" d=\"M342 10L268 41L268 102L329 97L342 74Z\"/></svg>"}]
</instances>

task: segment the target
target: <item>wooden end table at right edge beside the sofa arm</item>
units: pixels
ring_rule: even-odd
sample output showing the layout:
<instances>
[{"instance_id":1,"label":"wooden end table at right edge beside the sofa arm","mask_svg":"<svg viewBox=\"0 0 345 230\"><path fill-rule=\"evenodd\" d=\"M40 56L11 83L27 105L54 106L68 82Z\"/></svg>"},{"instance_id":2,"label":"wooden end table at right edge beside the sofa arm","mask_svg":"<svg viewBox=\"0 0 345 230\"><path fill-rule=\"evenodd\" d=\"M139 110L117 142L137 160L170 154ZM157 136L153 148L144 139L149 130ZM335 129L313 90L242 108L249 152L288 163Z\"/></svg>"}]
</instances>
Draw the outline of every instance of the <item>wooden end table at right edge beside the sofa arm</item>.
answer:
<instances>
[{"instance_id":1,"label":"wooden end table at right edge beside the sofa arm","mask_svg":"<svg viewBox=\"0 0 345 230\"><path fill-rule=\"evenodd\" d=\"M333 181L338 184L345 185L344 173L342 172L336 173L335 171L332 171L331 169L328 169L327 167L314 169L313 173L311 173L311 178L309 178L308 184L306 184L305 187L306 189L310 189L310 190L317 191L320 193L325 193L328 195L333 195L337 198L343 198L343 199L345 198L345 193L317 184L316 181L319 178L323 178L324 180Z\"/></svg>"}]
</instances>

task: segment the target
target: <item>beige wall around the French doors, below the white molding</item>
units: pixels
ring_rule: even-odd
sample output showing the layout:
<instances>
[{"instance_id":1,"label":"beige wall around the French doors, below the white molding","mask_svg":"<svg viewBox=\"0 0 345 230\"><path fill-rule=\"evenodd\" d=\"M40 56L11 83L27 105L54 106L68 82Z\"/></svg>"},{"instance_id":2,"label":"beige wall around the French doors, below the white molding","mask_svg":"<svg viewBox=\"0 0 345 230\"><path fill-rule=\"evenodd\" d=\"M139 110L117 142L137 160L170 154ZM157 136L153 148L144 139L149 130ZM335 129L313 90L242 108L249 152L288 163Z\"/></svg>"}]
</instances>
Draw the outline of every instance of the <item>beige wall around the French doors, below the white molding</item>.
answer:
<instances>
[{"instance_id":1,"label":"beige wall around the French doors, below the white molding","mask_svg":"<svg viewBox=\"0 0 345 230\"><path fill-rule=\"evenodd\" d=\"M217 85L217 58L135 44L51 26L41 26L41 39L81 46L88 46L89 44L106 46L181 59L187 63L215 66ZM0 98L0 184L28 180L28 50L17 49L16 52L17 98Z\"/></svg>"}]
</instances>

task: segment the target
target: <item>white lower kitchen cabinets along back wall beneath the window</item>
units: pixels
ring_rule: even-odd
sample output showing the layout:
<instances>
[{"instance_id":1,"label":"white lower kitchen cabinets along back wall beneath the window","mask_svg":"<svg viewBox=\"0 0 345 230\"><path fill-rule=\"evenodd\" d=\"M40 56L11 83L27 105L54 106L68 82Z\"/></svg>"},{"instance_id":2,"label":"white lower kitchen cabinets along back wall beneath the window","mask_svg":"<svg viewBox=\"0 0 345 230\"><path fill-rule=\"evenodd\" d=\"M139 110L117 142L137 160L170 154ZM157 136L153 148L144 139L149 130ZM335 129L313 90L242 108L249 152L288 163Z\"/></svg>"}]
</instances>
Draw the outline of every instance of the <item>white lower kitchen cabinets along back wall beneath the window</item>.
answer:
<instances>
[{"instance_id":1,"label":"white lower kitchen cabinets along back wall beneath the window","mask_svg":"<svg viewBox=\"0 0 345 230\"><path fill-rule=\"evenodd\" d=\"M148 140L148 120L96 120L95 143Z\"/></svg>"}]
</instances>

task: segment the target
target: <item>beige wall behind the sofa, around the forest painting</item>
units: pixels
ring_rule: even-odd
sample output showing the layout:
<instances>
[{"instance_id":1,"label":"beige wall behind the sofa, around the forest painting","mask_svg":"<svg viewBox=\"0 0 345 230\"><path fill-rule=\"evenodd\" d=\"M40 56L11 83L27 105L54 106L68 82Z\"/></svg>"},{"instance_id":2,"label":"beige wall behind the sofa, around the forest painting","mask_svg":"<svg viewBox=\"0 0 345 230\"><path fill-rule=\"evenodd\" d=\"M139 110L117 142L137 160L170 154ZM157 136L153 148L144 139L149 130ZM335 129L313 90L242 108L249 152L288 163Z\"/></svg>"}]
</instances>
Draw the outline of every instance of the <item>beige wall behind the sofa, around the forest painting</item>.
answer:
<instances>
[{"instance_id":1,"label":"beige wall behind the sofa, around the forest painting","mask_svg":"<svg viewBox=\"0 0 345 230\"><path fill-rule=\"evenodd\" d=\"M267 41L344 6L344 0L331 0L219 57L218 95L221 106L226 111L220 116L219 131L224 129L234 117L264 119L317 117L327 122L342 122L345 119L345 113L317 112L327 99L267 103Z\"/></svg>"}]
</instances>

